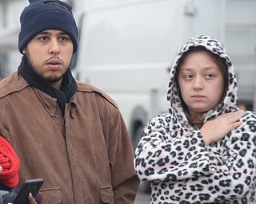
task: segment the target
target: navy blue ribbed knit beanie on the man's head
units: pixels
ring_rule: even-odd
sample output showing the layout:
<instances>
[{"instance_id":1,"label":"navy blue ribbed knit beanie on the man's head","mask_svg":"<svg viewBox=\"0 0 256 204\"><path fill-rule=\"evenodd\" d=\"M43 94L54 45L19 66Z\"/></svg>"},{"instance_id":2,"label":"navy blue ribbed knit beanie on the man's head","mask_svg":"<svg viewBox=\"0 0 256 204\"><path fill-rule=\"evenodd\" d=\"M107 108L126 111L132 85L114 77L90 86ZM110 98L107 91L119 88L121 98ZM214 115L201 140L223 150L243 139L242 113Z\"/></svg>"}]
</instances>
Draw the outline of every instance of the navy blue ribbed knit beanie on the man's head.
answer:
<instances>
[{"instance_id":1,"label":"navy blue ribbed knit beanie on the man's head","mask_svg":"<svg viewBox=\"0 0 256 204\"><path fill-rule=\"evenodd\" d=\"M67 33L78 50L78 28L72 14L72 6L59 0L29 0L20 16L21 31L18 50L22 50L34 36L46 29L59 29Z\"/></svg>"}]
</instances>

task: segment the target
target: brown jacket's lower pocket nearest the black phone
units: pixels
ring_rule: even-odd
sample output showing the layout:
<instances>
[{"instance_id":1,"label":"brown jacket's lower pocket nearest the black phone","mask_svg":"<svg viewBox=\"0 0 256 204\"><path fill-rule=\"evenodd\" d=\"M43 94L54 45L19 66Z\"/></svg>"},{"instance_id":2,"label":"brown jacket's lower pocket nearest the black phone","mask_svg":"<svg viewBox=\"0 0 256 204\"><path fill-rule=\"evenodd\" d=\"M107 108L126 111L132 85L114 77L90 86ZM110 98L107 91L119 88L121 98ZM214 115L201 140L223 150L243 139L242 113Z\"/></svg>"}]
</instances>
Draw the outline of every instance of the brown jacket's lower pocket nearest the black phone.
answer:
<instances>
[{"instance_id":1,"label":"brown jacket's lower pocket nearest the black phone","mask_svg":"<svg viewBox=\"0 0 256 204\"><path fill-rule=\"evenodd\" d=\"M43 204L62 203L62 191L60 188L47 188L40 190Z\"/></svg>"}]
</instances>

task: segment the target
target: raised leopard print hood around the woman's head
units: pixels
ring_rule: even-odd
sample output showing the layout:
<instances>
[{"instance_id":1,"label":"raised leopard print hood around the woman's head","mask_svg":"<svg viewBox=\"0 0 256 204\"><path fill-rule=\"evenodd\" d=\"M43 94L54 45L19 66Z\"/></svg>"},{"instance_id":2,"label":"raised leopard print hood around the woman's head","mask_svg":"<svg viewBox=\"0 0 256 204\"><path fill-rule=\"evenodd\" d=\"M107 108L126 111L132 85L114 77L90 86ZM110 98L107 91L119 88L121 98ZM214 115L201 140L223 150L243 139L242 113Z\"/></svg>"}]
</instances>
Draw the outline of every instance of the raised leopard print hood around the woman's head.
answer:
<instances>
[{"instance_id":1,"label":"raised leopard print hood around the woman's head","mask_svg":"<svg viewBox=\"0 0 256 204\"><path fill-rule=\"evenodd\" d=\"M203 122L210 120L215 116L218 116L224 112L234 112L236 110L235 104L237 100L237 80L234 73L234 67L230 61L230 57L226 54L226 49L218 40L214 37L206 35L198 35L191 37L185 45L179 50L177 57L174 58L174 63L170 70L170 81L167 92L167 100L170 104L169 112L172 116L176 118L182 125L189 125L188 120L186 119L184 110L182 108L182 100L178 94L178 85L175 83L174 76L177 72L178 63L184 53L190 50L193 47L202 46L210 50L211 53L222 57L226 61L229 79L228 79L228 89L226 96L222 101L222 104L218 104L217 107L210 109L203 115Z\"/></svg>"}]
</instances>

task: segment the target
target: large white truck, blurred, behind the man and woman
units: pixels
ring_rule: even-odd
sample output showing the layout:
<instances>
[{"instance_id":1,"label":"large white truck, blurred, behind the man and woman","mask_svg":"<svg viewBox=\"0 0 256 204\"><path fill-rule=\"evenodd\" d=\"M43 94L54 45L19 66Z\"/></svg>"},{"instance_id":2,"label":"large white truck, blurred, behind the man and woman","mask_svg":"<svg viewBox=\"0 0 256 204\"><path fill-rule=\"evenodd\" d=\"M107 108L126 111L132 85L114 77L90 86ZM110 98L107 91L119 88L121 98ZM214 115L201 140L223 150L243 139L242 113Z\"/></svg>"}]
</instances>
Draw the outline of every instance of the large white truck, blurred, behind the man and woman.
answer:
<instances>
[{"instance_id":1,"label":"large white truck, blurred, behind the man and woman","mask_svg":"<svg viewBox=\"0 0 256 204\"><path fill-rule=\"evenodd\" d=\"M238 75L239 102L256 108L256 1L88 0L77 10L73 72L118 104L134 147L142 128L167 112L170 65L195 34L222 41Z\"/></svg>"}]
</instances>

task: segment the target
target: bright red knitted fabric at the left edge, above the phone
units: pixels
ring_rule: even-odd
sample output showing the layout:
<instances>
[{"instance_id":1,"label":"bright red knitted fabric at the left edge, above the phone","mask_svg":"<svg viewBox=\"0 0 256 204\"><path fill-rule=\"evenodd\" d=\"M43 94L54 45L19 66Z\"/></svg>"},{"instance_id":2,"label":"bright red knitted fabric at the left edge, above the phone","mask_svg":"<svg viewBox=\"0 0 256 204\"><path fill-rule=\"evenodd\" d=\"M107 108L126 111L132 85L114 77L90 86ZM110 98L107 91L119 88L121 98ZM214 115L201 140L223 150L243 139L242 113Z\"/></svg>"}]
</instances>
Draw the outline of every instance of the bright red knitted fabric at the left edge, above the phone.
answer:
<instances>
[{"instance_id":1,"label":"bright red knitted fabric at the left edge, above the phone","mask_svg":"<svg viewBox=\"0 0 256 204\"><path fill-rule=\"evenodd\" d=\"M0 136L0 183L13 188L18 185L19 159L10 143Z\"/></svg>"}]
</instances>

